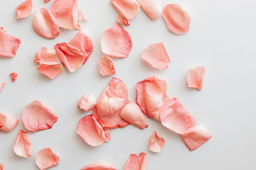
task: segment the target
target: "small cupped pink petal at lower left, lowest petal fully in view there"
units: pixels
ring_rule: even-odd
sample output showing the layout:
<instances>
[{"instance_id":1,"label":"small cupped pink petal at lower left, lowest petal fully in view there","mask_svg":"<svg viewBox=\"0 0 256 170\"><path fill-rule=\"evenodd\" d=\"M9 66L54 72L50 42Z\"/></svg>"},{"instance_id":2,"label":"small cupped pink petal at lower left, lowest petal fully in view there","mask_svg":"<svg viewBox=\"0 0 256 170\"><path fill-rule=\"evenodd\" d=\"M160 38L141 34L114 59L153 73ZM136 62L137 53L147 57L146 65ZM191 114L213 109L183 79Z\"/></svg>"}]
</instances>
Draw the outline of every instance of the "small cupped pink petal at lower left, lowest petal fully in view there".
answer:
<instances>
[{"instance_id":1,"label":"small cupped pink petal at lower left, lowest petal fully in view there","mask_svg":"<svg viewBox=\"0 0 256 170\"><path fill-rule=\"evenodd\" d=\"M42 149L36 154L36 164L41 170L58 165L59 162L60 157L53 153L51 148Z\"/></svg>"}]
</instances>

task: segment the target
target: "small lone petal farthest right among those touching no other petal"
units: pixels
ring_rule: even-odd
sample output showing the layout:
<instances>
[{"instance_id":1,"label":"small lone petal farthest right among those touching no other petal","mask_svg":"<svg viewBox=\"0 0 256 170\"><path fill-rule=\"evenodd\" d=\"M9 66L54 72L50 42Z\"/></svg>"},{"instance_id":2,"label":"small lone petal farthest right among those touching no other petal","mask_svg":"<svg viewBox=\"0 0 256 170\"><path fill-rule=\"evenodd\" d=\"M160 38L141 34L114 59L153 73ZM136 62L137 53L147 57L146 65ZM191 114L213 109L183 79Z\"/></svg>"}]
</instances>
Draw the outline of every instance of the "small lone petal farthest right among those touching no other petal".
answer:
<instances>
[{"instance_id":1,"label":"small lone petal farthest right among those touching no other petal","mask_svg":"<svg viewBox=\"0 0 256 170\"><path fill-rule=\"evenodd\" d=\"M204 73L205 69L203 66L191 68L187 74L188 87L201 90L203 88L204 83Z\"/></svg>"}]
</instances>

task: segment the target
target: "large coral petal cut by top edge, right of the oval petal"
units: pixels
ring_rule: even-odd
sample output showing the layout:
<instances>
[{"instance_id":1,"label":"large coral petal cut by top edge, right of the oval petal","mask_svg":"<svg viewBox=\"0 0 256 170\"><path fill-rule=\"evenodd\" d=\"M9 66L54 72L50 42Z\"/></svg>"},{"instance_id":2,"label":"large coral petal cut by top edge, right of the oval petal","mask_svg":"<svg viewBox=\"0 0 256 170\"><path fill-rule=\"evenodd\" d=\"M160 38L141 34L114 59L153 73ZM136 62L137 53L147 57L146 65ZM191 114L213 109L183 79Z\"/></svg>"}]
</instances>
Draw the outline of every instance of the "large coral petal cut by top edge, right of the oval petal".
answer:
<instances>
[{"instance_id":1,"label":"large coral petal cut by top edge, right of the oval petal","mask_svg":"<svg viewBox=\"0 0 256 170\"><path fill-rule=\"evenodd\" d=\"M74 30L78 21L78 0L55 0L50 11L60 27Z\"/></svg>"}]
</instances>

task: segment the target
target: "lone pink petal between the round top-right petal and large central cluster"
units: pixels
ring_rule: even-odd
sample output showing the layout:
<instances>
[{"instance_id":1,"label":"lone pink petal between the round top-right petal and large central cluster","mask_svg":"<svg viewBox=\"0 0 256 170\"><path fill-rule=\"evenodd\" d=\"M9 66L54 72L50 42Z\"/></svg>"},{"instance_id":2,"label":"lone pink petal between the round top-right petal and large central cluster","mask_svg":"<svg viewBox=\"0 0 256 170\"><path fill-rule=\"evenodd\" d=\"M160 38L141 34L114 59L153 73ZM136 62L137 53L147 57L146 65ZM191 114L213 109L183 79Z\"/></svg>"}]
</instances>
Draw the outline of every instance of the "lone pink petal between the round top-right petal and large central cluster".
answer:
<instances>
[{"instance_id":1,"label":"lone pink petal between the round top-right petal and large central cluster","mask_svg":"<svg viewBox=\"0 0 256 170\"><path fill-rule=\"evenodd\" d=\"M168 68L170 57L163 43L151 44L142 52L142 59L159 70Z\"/></svg>"}]
</instances>

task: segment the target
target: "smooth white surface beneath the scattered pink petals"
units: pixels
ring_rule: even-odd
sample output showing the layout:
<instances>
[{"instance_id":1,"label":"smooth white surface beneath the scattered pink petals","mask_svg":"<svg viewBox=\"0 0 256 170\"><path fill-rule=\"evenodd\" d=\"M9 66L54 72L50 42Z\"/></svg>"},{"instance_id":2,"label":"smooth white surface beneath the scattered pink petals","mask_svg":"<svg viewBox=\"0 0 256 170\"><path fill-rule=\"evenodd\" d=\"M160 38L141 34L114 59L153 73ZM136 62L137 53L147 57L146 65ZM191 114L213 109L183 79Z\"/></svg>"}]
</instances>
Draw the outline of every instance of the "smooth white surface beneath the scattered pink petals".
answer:
<instances>
[{"instance_id":1,"label":"smooth white surface beneath the scattered pink petals","mask_svg":"<svg viewBox=\"0 0 256 170\"><path fill-rule=\"evenodd\" d=\"M39 170L36 153L52 148L60 156L60 164L51 170L79 170L83 166L108 161L123 170L129 154L148 153L147 170L254 170L256 142L255 112L255 6L256 1L241 0L161 0L162 8L170 3L186 6L191 13L190 31L185 35L170 32L162 16L152 21L140 9L138 15L125 26L130 33L133 48L127 58L113 58L116 78L122 79L129 91L129 100L136 98L136 83L155 75L167 81L170 97L180 102L204 125L213 137L194 151L189 151L181 136L162 126L161 122L146 118L149 127L141 130L133 125L111 129L111 140L91 147L77 135L77 122L85 113L77 106L87 93L99 97L111 80L98 72L98 61L104 54L100 49L103 32L116 24L117 10L110 0L79 0L89 21L81 21L93 39L93 53L87 63L70 73L64 66L62 73L51 80L39 73L33 63L35 53L43 46L69 42L77 30L62 29L54 40L36 34L32 19L38 8L50 8L53 0L32 0L33 13L28 18L16 19L16 7L23 0L1 0L0 26L21 39L17 55L0 57L0 81L6 85L0 92L0 111L20 120L10 133L0 131L0 163L6 170ZM142 51L152 43L163 42L171 63L166 70L157 70L146 64ZM59 59L58 59L59 60ZM201 91L188 88L187 71L205 67L205 81ZM17 72L11 82L9 73ZM52 129L29 132L22 122L23 108L33 100L40 100L58 116ZM32 142L32 157L23 158L13 151L20 129L26 130ZM148 149L150 136L157 131L165 146L160 153Z\"/></svg>"}]
</instances>

